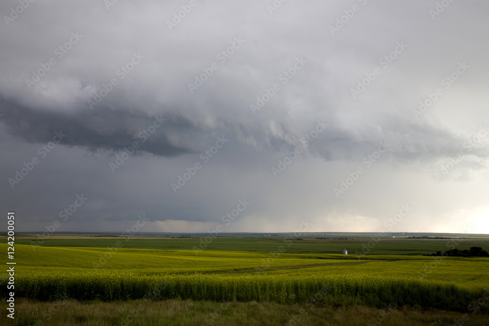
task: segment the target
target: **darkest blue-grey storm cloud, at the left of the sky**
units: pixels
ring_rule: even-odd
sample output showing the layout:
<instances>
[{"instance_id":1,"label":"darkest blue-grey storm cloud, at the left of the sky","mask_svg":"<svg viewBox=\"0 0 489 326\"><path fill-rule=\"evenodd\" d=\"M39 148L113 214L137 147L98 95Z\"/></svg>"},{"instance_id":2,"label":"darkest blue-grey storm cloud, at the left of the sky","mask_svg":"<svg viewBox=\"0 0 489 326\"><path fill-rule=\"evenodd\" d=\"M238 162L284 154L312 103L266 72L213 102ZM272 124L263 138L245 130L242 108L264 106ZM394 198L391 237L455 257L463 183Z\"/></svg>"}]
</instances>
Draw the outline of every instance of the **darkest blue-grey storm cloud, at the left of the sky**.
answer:
<instances>
[{"instance_id":1,"label":"darkest blue-grey storm cloud, at the left of the sky","mask_svg":"<svg viewBox=\"0 0 489 326\"><path fill-rule=\"evenodd\" d=\"M55 132L66 135L64 146L82 146L90 151L122 151L133 142L144 143L141 150L160 156L177 156L191 152L189 148L174 146L166 137L167 132L194 133L188 122L179 117L163 117L162 114L148 116L145 112L121 112L111 109L76 112L40 111L32 108L14 106L2 101L4 108L2 122L15 136L31 143L48 143ZM148 131L150 126L155 127Z\"/></svg>"}]
</instances>

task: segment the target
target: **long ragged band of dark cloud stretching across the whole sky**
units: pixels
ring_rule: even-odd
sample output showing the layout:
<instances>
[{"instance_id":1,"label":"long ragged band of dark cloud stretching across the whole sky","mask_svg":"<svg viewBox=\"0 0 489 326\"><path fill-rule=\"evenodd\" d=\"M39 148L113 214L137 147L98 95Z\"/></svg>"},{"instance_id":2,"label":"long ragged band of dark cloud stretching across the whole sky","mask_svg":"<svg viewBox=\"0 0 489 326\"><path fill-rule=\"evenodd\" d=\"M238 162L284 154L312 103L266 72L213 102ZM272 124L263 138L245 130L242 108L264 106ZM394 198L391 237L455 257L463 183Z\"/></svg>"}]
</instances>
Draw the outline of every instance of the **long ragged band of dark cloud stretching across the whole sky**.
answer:
<instances>
[{"instance_id":1,"label":"long ragged band of dark cloud stretching across the whole sky","mask_svg":"<svg viewBox=\"0 0 489 326\"><path fill-rule=\"evenodd\" d=\"M197 153L203 150L208 142L202 139L209 137L209 131L197 130L190 122L177 114L156 114L148 116L146 112L116 111L108 108L97 110L77 110L71 112L44 111L21 106L14 106L2 101L4 108L3 123L15 136L21 137L30 143L47 143L52 141L54 132L67 134L63 139L64 146L86 147L92 152L99 150L123 151L131 147L134 142L142 145L139 151L149 152L158 156L174 157L185 153ZM360 113L357 113L358 116ZM457 136L447 130L432 126L420 126L403 120L396 116L377 117L379 125L384 127L379 130L377 125L362 125L361 130L341 130L331 123L329 128L320 134L317 140L311 143L310 150L321 155L326 160L352 159L358 160L371 152L379 142L387 142L391 145L389 152L392 157L402 160L431 159L434 157L446 157L453 153L454 145L458 149L463 147L464 138L457 140ZM318 120L319 121L319 120ZM333 120L333 125L340 125ZM323 120L322 123L326 123ZM161 126L153 128L150 126ZM317 123L315 124L317 125ZM314 130L315 125L309 126ZM249 127L248 129L236 122L223 121L225 131L233 135L249 134L259 139L261 146L268 145L273 150L293 150L301 144L300 139L305 140L304 135L297 130L297 124L290 124L286 120L278 122L270 121L263 129ZM302 127L307 130L308 127ZM224 128L222 128L224 129ZM156 130L156 131L155 131ZM222 130L210 130L222 131ZM309 132L307 132L309 133ZM174 145L169 140L168 134L176 134L177 137L185 135L189 143L176 141L181 147ZM409 136L406 136L409 135ZM361 137L361 138L360 138ZM245 136L243 140L249 139ZM309 137L311 139L311 136ZM436 141L434 143L433 141ZM487 157L487 150L474 151L483 157Z\"/></svg>"}]
</instances>

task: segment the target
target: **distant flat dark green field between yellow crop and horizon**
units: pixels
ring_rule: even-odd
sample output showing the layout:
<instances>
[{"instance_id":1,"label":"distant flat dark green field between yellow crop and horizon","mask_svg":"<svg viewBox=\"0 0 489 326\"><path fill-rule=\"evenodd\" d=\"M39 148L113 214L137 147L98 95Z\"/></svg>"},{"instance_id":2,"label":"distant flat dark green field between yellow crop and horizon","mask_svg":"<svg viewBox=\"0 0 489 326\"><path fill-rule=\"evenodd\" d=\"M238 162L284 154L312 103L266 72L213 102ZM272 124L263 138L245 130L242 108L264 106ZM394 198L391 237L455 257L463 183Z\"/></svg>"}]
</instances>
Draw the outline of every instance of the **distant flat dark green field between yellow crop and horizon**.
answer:
<instances>
[{"instance_id":1,"label":"distant flat dark green field between yellow crop and horizon","mask_svg":"<svg viewBox=\"0 0 489 326\"><path fill-rule=\"evenodd\" d=\"M375 234L372 234L375 237ZM347 235L337 236L342 240L334 239L312 239L315 237L295 240L290 238L280 239L250 239L250 238L214 238L209 244L202 244L200 238L181 239L181 238L132 238L130 241L123 242L123 248L135 249L164 249L164 250L192 250L194 247L205 250L229 250L229 251L251 251L251 252L270 252L276 251L277 247L284 245L284 241L292 241L293 245L287 247L287 253L326 253L341 254L343 249L348 249L349 255L357 253L368 253L369 255L423 255L431 254L436 251L447 250L447 239L392 239L382 238L375 243L373 248L365 251L365 246L369 241L374 241L370 237L357 235L344 239ZM67 238L67 237L63 237ZM51 247L108 247L113 246L121 238L110 237L101 239L99 237L85 237L77 239L57 239L50 237L41 240L41 243L35 242L35 237L28 239L16 239L17 244L29 245L37 243L41 246ZM352 239L353 238L353 239ZM474 237L470 237L474 238ZM373 243L373 242L372 242ZM469 249L471 246L488 247L489 238L465 239L457 245L458 249Z\"/></svg>"}]
</instances>

